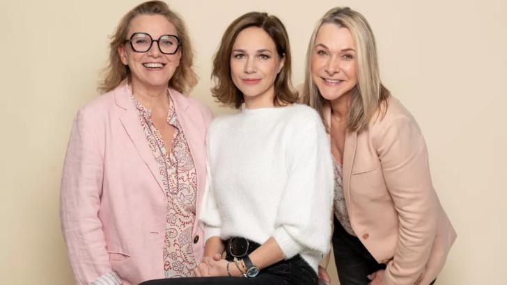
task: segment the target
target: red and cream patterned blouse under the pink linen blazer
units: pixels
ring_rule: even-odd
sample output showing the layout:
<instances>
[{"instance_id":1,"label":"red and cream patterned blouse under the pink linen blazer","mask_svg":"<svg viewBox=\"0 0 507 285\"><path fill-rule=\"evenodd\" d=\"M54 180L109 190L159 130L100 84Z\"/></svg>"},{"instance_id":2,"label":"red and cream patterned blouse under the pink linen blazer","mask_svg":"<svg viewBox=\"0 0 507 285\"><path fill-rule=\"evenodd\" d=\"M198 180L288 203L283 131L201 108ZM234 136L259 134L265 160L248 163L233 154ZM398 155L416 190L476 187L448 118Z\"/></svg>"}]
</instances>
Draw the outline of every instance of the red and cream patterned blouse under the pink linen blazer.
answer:
<instances>
[{"instance_id":1,"label":"red and cream patterned blouse under the pink linen blazer","mask_svg":"<svg viewBox=\"0 0 507 285\"><path fill-rule=\"evenodd\" d=\"M171 96L167 123L174 128L174 134L169 152L151 121L151 111L133 96L132 101L139 111L141 127L159 166L158 175L162 178L167 197L165 246L161 249L166 278L191 277L192 270L196 267L192 250L192 229L196 219L197 194L197 174L192 154Z\"/></svg>"}]
</instances>

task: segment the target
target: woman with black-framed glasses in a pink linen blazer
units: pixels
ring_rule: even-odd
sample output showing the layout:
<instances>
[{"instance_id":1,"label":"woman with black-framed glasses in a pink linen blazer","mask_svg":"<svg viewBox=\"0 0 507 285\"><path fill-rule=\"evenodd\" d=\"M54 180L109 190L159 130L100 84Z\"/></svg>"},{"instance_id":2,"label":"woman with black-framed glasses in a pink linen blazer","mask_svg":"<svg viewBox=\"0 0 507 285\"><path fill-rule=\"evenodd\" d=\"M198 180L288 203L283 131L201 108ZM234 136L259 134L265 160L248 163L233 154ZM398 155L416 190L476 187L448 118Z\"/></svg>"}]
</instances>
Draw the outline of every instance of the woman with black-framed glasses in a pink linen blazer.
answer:
<instances>
[{"instance_id":1,"label":"woman with black-framed glasses in a pink linen blazer","mask_svg":"<svg viewBox=\"0 0 507 285\"><path fill-rule=\"evenodd\" d=\"M197 223L210 110L182 19L162 1L130 10L112 36L104 95L72 125L61 224L77 284L188 277L203 257Z\"/></svg>"}]
</instances>

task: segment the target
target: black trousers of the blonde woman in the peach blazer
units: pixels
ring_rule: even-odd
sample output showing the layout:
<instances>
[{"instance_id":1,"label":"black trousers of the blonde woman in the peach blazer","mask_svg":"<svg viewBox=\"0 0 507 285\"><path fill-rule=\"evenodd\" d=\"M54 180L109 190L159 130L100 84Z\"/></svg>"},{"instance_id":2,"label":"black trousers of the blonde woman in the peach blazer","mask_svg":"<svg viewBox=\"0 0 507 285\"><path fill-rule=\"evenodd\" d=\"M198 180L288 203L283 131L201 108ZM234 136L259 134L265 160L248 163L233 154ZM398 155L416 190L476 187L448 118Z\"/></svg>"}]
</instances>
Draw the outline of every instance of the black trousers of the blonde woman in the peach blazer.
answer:
<instances>
[{"instance_id":1,"label":"black trousers of the blonde woman in the peach blazer","mask_svg":"<svg viewBox=\"0 0 507 285\"><path fill-rule=\"evenodd\" d=\"M386 268L385 264L378 263L373 258L359 238L343 229L336 217L334 217L333 251L341 285L368 284L370 279L367 275ZM434 282L435 280L431 284Z\"/></svg>"}]
</instances>

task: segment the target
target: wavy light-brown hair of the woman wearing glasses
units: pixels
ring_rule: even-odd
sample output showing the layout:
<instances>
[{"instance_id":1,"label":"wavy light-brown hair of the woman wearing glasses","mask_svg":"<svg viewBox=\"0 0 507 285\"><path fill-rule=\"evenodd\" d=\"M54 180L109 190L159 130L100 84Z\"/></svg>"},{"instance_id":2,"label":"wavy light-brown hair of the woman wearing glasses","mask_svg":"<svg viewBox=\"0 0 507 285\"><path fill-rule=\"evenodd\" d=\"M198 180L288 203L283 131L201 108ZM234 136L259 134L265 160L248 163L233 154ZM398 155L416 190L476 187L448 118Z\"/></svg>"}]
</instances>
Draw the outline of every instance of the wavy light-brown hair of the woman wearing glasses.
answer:
<instances>
[{"instance_id":1,"label":"wavy light-brown hair of the woman wearing glasses","mask_svg":"<svg viewBox=\"0 0 507 285\"><path fill-rule=\"evenodd\" d=\"M197 74L193 70L194 50L190 43L189 34L182 18L169 9L166 3L162 1L147 1L139 4L130 10L120 20L114 35L111 35L109 44L109 64L103 71L103 79L99 83L99 90L102 93L109 92L116 88L123 79L130 76L130 69L127 65L123 65L118 54L118 48L125 44L125 40L129 38L127 35L130 22L138 15L162 15L173 24L178 33L180 40L181 58L180 65L176 68L173 77L169 80L168 86L178 90L183 94L187 94L197 84Z\"/></svg>"}]
</instances>

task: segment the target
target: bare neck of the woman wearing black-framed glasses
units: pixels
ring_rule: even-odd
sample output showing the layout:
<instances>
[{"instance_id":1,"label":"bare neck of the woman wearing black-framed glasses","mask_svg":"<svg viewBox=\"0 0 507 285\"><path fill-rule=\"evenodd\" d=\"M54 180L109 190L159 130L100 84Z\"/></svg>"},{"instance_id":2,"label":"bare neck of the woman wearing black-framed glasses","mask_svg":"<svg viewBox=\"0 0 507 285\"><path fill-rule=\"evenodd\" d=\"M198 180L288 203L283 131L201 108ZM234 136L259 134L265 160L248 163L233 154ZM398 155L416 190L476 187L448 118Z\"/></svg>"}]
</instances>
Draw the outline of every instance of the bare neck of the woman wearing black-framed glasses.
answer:
<instances>
[{"instance_id":1,"label":"bare neck of the woman wearing black-framed glasses","mask_svg":"<svg viewBox=\"0 0 507 285\"><path fill-rule=\"evenodd\" d=\"M153 111L154 108L169 107L167 86L146 86L132 81L132 95L143 106Z\"/></svg>"}]
</instances>

